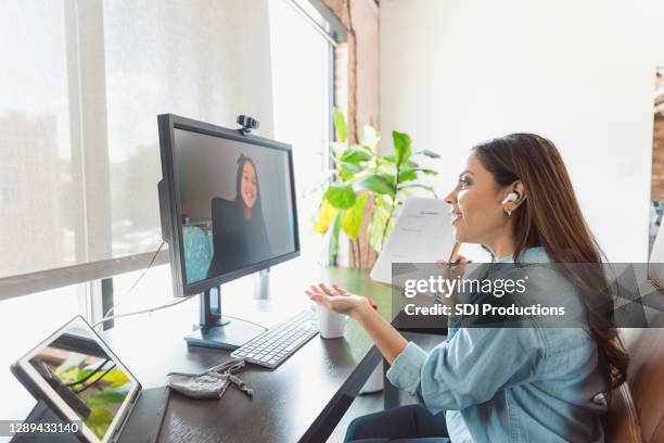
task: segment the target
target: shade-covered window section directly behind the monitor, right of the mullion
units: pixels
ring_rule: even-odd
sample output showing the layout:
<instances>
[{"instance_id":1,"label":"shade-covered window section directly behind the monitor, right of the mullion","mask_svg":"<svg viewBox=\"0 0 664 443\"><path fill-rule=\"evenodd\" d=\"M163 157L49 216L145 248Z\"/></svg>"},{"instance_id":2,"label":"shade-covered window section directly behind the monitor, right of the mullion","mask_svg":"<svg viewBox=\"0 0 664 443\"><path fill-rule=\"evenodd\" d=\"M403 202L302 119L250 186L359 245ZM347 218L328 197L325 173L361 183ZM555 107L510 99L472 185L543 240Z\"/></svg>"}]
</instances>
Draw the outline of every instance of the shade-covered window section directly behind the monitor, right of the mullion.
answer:
<instances>
[{"instance_id":1,"label":"shade-covered window section directly behind the monitor, right of the mullion","mask_svg":"<svg viewBox=\"0 0 664 443\"><path fill-rule=\"evenodd\" d=\"M104 2L113 256L161 242L156 115L235 125L251 113L271 137L267 2Z\"/></svg>"}]
</instances>

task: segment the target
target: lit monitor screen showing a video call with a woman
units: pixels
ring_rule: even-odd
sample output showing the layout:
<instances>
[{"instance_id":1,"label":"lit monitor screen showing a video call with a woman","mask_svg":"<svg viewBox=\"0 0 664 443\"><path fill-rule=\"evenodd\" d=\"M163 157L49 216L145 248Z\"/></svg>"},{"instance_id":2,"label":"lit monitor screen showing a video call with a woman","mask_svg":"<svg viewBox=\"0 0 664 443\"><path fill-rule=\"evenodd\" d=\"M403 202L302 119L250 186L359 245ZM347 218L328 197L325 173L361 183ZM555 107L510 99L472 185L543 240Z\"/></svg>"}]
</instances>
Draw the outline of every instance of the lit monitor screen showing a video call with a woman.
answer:
<instances>
[{"instance_id":1,"label":"lit monitor screen showing a video call with a woman","mask_svg":"<svg viewBox=\"0 0 664 443\"><path fill-rule=\"evenodd\" d=\"M176 127L173 154L184 284L297 250L289 150Z\"/></svg>"}]
</instances>

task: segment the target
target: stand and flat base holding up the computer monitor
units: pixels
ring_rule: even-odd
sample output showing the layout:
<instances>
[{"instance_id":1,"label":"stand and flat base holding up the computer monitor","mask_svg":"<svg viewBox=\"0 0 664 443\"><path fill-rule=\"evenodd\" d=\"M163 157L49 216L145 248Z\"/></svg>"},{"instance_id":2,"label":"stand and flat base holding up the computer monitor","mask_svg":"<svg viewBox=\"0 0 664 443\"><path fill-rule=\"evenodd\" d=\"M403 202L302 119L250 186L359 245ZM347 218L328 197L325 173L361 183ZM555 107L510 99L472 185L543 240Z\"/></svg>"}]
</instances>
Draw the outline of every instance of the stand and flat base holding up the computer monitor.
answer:
<instances>
[{"instance_id":1,"label":"stand and flat base holding up the computer monitor","mask_svg":"<svg viewBox=\"0 0 664 443\"><path fill-rule=\"evenodd\" d=\"M221 288L210 288L199 295L199 329L184 337L189 345L237 350L265 330L239 318L221 315Z\"/></svg>"}]
</instances>

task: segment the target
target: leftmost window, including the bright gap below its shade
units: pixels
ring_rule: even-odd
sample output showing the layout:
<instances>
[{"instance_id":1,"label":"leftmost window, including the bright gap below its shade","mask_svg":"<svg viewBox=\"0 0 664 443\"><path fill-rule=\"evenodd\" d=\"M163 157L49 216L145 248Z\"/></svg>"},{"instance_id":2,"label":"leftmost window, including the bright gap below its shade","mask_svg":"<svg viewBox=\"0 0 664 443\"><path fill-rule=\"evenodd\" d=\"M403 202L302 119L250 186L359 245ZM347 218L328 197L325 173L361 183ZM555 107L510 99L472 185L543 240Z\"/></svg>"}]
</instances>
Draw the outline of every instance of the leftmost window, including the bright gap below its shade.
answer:
<instances>
[{"instance_id":1,"label":"leftmost window, including the bright gap below its shade","mask_svg":"<svg viewBox=\"0 0 664 443\"><path fill-rule=\"evenodd\" d=\"M74 186L65 7L10 0L0 14L0 277L74 264L82 214ZM29 229L27 229L29 227ZM0 292L0 295L4 295ZM0 417L23 419L34 400L9 367L30 346L86 313L87 284L0 302Z\"/></svg>"}]
</instances>

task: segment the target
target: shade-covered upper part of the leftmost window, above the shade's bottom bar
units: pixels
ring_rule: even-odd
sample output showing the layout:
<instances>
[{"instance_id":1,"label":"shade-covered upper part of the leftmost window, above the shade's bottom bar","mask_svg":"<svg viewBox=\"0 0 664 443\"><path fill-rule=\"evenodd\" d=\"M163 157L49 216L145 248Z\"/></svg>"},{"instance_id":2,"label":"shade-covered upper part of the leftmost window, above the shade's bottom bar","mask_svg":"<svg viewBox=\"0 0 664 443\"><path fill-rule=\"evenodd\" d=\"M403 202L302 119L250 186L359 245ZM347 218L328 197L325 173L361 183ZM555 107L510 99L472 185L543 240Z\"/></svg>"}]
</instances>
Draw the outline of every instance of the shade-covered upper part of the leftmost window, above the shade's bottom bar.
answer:
<instances>
[{"instance_id":1,"label":"shade-covered upper part of the leftmost window, above the shade's bottom bar","mask_svg":"<svg viewBox=\"0 0 664 443\"><path fill-rule=\"evenodd\" d=\"M63 1L2 3L0 250L12 253L0 256L0 277L76 262L82 205L72 180L63 17Z\"/></svg>"}]
</instances>

